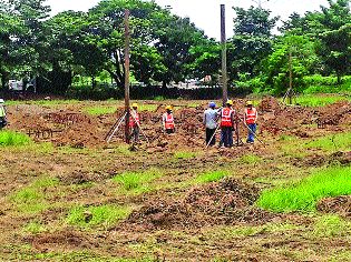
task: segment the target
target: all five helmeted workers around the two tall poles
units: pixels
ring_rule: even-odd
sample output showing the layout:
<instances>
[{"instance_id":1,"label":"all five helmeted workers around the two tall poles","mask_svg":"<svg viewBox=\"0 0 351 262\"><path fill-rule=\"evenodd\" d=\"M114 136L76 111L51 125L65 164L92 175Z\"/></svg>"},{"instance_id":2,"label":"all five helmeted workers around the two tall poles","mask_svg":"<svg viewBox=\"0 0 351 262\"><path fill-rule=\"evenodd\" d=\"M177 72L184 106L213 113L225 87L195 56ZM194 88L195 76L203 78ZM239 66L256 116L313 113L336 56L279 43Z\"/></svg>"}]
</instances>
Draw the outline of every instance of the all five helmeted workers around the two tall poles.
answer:
<instances>
[{"instance_id":1,"label":"all five helmeted workers around the two tall poles","mask_svg":"<svg viewBox=\"0 0 351 262\"><path fill-rule=\"evenodd\" d=\"M216 108L215 102L209 102L208 109L204 113L204 127L206 129L206 145L215 145L215 133L221 128L221 142L220 147L233 147L233 131L237 128L240 117L233 109L233 101L227 100L224 108ZM246 102L244 110L244 125L247 128L247 143L253 143L256 132L257 110L253 107L252 101ZM218 123L220 121L220 123ZM175 121L172 111L172 105L166 107L166 112L162 117L163 129L167 134L175 132ZM130 139L134 142L139 141L140 133L140 118L138 113L138 104L133 103L129 115L129 128L131 129Z\"/></svg>"}]
</instances>

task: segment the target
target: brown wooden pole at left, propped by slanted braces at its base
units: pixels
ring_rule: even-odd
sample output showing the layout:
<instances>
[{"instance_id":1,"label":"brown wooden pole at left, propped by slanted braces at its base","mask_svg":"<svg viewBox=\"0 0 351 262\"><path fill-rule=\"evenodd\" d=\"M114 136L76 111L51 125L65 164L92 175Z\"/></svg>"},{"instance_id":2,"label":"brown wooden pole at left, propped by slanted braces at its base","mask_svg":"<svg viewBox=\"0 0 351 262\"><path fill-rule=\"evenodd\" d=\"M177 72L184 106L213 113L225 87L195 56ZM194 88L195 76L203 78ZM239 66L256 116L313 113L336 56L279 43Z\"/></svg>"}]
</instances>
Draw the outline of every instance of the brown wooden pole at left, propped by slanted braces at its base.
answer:
<instances>
[{"instance_id":1,"label":"brown wooden pole at left, propped by slanted braces at its base","mask_svg":"<svg viewBox=\"0 0 351 262\"><path fill-rule=\"evenodd\" d=\"M130 117L130 100L129 100L129 46L130 46L130 32L129 32L129 10L125 10L125 110L126 110L126 125L125 137L126 143L130 142L129 130L129 117Z\"/></svg>"}]
</instances>

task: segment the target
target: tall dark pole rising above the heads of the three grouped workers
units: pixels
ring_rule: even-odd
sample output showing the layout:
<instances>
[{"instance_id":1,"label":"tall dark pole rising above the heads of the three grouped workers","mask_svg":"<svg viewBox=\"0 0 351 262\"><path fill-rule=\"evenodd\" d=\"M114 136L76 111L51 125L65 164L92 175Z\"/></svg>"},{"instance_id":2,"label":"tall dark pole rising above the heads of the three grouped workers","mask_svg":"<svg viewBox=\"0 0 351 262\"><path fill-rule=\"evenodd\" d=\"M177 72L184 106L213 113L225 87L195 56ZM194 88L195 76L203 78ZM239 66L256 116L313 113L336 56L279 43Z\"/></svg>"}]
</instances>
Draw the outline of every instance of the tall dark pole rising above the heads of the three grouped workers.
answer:
<instances>
[{"instance_id":1,"label":"tall dark pole rising above the heads of the three grouped workers","mask_svg":"<svg viewBox=\"0 0 351 262\"><path fill-rule=\"evenodd\" d=\"M222 43L222 89L223 89L223 105L224 105L228 99L227 74L226 74L225 4L221 4L221 43Z\"/></svg>"}]
</instances>

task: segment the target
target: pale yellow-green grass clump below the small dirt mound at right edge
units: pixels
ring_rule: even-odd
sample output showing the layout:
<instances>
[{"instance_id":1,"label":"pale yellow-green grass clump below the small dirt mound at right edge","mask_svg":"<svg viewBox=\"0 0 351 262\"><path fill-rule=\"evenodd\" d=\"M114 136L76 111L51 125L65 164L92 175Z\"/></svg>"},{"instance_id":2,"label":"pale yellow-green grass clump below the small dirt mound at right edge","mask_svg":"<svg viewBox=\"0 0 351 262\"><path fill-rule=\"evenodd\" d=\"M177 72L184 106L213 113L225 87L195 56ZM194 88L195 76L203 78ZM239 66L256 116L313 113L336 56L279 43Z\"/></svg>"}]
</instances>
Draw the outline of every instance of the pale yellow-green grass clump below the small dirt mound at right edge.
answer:
<instances>
[{"instance_id":1,"label":"pale yellow-green grass clump below the small dirt mound at right edge","mask_svg":"<svg viewBox=\"0 0 351 262\"><path fill-rule=\"evenodd\" d=\"M332 238L350 235L351 222L335 214L323 215L318 219L313 228L313 235L319 238Z\"/></svg>"}]
</instances>

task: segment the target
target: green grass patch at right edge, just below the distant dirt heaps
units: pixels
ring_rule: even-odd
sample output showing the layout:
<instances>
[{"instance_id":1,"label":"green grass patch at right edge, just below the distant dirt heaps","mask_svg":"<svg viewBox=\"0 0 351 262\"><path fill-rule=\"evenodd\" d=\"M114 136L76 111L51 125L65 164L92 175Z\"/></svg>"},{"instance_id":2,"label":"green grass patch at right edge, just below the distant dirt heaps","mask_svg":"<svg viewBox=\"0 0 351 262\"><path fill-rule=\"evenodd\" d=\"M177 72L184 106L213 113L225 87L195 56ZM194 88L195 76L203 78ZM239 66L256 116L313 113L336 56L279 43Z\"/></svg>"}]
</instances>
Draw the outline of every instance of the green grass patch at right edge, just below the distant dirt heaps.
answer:
<instances>
[{"instance_id":1,"label":"green grass patch at right edge, just below the distant dirt heaps","mask_svg":"<svg viewBox=\"0 0 351 262\"><path fill-rule=\"evenodd\" d=\"M351 150L351 132L318 138L305 143L304 148L315 148L329 152Z\"/></svg>"}]
</instances>

